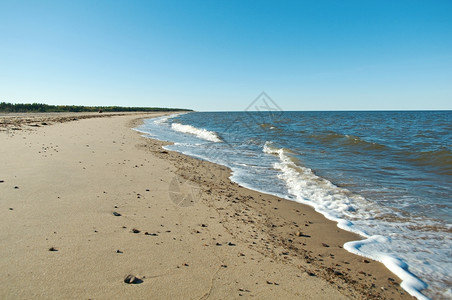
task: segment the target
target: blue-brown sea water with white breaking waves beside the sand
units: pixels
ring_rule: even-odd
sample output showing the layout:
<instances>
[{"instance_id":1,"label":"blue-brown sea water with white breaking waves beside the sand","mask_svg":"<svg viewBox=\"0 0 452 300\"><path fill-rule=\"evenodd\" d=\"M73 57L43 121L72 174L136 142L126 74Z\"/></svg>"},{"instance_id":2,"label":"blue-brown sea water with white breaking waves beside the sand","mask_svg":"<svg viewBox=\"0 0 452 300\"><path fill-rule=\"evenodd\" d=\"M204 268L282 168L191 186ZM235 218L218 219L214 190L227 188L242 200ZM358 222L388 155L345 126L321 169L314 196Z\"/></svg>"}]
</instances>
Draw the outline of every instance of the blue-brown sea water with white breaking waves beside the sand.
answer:
<instances>
[{"instance_id":1,"label":"blue-brown sea water with white breaking waves beside the sand","mask_svg":"<svg viewBox=\"0 0 452 300\"><path fill-rule=\"evenodd\" d=\"M418 299L452 299L452 112L194 112L137 130L313 206Z\"/></svg>"}]
</instances>

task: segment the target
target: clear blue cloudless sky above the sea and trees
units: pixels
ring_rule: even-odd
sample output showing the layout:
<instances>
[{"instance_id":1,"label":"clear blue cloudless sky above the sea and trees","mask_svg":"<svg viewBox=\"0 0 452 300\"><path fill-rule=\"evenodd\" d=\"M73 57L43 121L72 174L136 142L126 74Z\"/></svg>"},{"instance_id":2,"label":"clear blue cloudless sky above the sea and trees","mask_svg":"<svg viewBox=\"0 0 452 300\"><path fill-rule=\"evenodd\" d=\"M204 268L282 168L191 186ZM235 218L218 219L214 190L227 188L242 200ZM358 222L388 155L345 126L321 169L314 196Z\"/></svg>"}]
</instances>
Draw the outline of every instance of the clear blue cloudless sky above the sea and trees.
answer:
<instances>
[{"instance_id":1,"label":"clear blue cloudless sky above the sea and trees","mask_svg":"<svg viewBox=\"0 0 452 300\"><path fill-rule=\"evenodd\" d=\"M452 109L452 1L0 0L0 101Z\"/></svg>"}]
</instances>

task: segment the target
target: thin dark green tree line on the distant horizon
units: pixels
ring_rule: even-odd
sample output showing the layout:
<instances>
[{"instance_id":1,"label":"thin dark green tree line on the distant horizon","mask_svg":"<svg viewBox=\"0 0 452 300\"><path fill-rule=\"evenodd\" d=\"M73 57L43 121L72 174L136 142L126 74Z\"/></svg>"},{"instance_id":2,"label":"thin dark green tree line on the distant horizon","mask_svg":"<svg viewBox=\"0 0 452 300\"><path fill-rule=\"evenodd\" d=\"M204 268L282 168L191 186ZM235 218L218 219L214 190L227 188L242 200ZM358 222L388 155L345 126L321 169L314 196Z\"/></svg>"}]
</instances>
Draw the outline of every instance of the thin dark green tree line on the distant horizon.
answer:
<instances>
[{"instance_id":1,"label":"thin dark green tree line on the distant horizon","mask_svg":"<svg viewBox=\"0 0 452 300\"><path fill-rule=\"evenodd\" d=\"M126 112L126 111L191 111L182 108L14 104L0 102L0 112Z\"/></svg>"}]
</instances>

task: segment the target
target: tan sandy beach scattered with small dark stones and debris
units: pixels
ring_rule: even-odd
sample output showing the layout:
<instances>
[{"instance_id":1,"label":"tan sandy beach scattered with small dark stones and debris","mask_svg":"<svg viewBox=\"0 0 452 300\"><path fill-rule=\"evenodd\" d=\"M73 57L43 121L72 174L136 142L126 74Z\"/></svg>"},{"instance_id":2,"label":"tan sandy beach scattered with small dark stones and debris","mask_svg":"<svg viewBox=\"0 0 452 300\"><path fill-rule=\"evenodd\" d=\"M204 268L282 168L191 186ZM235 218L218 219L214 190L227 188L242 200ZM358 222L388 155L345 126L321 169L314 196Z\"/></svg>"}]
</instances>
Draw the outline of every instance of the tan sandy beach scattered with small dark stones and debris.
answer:
<instances>
[{"instance_id":1,"label":"tan sandy beach scattered with small dark stones and debris","mask_svg":"<svg viewBox=\"0 0 452 300\"><path fill-rule=\"evenodd\" d=\"M311 207L132 130L162 114L0 115L0 298L412 299Z\"/></svg>"}]
</instances>

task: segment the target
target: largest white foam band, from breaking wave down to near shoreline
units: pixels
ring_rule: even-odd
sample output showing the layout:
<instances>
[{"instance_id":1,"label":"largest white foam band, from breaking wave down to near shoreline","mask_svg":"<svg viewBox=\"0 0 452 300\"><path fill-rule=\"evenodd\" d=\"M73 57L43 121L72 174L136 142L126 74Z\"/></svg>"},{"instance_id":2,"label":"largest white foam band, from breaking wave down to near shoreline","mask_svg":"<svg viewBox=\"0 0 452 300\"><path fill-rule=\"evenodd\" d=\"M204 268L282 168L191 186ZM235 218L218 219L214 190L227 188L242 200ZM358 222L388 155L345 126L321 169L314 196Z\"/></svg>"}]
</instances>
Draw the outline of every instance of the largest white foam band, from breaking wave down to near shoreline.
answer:
<instances>
[{"instance_id":1,"label":"largest white foam band, from breaking wave down to near shoreline","mask_svg":"<svg viewBox=\"0 0 452 300\"><path fill-rule=\"evenodd\" d=\"M281 173L278 177L285 181L289 193L295 196L296 201L310 205L317 212L322 213L330 220L336 221L338 227L347 231L355 232L366 239L361 241L348 242L344 248L357 255L369 257L383 263L391 272L397 275L401 280L401 287L409 294L418 299L428 299L420 291L427 287L423 281L418 279L408 270L408 265L401 259L383 252L364 253L360 250L364 245L372 245L373 248L379 248L384 244L390 243L391 239L381 235L370 236L366 232L356 228L351 221L344 219L367 218L372 219L372 210L368 205L357 205L366 200L358 195L352 195L344 189L341 189L326 179L315 175L311 169L298 166L284 149L275 148L271 143L266 142L263 152L279 156L279 162L274 164L274 168ZM366 207L366 211L359 211L360 207ZM377 246L378 245L378 246ZM380 247L381 248L381 247Z\"/></svg>"}]
</instances>

